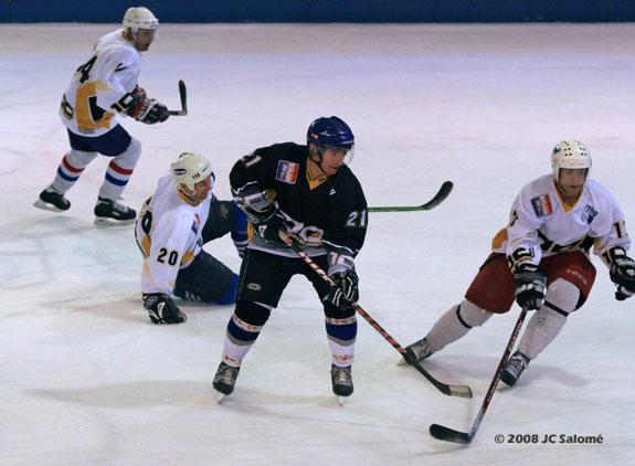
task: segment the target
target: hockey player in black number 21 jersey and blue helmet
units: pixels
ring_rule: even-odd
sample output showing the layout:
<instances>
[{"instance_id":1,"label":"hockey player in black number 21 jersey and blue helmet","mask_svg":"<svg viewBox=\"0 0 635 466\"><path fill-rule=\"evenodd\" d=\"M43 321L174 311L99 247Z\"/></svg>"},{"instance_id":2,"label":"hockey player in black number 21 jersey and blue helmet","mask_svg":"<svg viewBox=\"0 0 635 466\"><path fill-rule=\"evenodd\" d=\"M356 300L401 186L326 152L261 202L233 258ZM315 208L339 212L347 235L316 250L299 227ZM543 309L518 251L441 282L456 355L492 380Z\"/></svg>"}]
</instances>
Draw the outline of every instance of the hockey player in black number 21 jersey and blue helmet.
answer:
<instances>
[{"instance_id":1,"label":"hockey player in black number 21 jersey and blue helmet","mask_svg":"<svg viewBox=\"0 0 635 466\"><path fill-rule=\"evenodd\" d=\"M305 275L322 301L332 353L334 393L353 391L358 275L353 260L368 224L362 188L345 163L354 138L338 117L313 121L307 145L276 144L240 159L230 173L234 200L250 218L252 235L241 267L236 307L227 324L214 388L230 394L243 358L295 274ZM330 288L282 240L288 236L338 285Z\"/></svg>"}]
</instances>

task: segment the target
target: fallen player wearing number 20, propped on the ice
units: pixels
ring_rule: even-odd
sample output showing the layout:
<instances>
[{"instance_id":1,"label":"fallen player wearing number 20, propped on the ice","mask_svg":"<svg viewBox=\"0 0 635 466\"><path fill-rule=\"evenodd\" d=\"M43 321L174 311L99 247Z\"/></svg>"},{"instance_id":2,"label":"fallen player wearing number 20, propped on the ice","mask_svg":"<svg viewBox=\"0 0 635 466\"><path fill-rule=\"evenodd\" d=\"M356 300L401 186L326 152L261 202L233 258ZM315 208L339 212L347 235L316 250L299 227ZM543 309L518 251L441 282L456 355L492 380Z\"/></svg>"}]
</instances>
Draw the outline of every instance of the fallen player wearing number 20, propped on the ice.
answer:
<instances>
[{"instance_id":1,"label":"fallen player wearing number 20, propped on the ice","mask_svg":"<svg viewBox=\"0 0 635 466\"><path fill-rule=\"evenodd\" d=\"M184 152L170 171L144 203L135 227L144 254L144 307L154 324L186 321L172 295L233 304L237 275L202 247L229 232L241 256L247 244L247 218L233 201L213 197L214 173L208 159Z\"/></svg>"}]
</instances>

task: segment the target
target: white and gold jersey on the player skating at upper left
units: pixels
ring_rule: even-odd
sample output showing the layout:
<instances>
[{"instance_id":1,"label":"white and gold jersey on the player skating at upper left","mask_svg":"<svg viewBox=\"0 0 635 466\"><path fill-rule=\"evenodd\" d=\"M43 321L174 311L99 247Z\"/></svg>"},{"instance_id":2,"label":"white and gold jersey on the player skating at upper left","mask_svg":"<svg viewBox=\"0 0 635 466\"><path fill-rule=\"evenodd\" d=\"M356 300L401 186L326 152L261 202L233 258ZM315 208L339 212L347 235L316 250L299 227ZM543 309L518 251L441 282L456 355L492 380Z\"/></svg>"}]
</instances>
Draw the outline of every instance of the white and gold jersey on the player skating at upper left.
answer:
<instances>
[{"instance_id":1,"label":"white and gold jersey on the player skating at upper left","mask_svg":"<svg viewBox=\"0 0 635 466\"><path fill-rule=\"evenodd\" d=\"M82 136L102 136L116 126L115 115L131 102L141 71L141 54L124 39L124 30L97 41L93 55L77 68L62 96L60 115Z\"/></svg>"}]
</instances>

